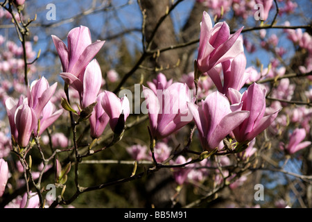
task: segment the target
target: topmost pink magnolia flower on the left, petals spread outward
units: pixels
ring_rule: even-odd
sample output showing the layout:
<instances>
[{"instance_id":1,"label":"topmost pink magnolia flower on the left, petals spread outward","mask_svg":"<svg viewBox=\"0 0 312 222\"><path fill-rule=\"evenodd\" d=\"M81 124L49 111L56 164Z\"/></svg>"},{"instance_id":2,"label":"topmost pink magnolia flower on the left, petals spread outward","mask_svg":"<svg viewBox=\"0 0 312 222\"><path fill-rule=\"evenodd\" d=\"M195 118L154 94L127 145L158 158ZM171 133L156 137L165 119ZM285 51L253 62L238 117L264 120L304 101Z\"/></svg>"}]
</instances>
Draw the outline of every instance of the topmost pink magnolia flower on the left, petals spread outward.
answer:
<instances>
[{"instance_id":1,"label":"topmost pink magnolia flower on the left, petals spread outward","mask_svg":"<svg viewBox=\"0 0 312 222\"><path fill-rule=\"evenodd\" d=\"M63 72L78 77L87 64L100 51L105 41L92 43L89 28L80 26L71 29L67 35L68 47L59 37L52 35L52 39L62 63Z\"/></svg>"}]
</instances>

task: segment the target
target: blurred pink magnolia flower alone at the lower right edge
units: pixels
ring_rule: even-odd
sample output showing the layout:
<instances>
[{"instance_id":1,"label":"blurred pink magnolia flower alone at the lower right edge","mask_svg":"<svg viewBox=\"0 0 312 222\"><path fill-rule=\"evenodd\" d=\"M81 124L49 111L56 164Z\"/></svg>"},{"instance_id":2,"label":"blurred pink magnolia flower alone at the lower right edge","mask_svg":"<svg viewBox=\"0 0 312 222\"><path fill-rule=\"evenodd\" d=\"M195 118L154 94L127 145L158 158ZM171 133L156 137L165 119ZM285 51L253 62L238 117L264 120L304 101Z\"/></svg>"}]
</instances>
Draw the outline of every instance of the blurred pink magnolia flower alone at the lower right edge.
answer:
<instances>
[{"instance_id":1,"label":"blurred pink magnolia flower alone at the lower right edge","mask_svg":"<svg viewBox=\"0 0 312 222\"><path fill-rule=\"evenodd\" d=\"M306 137L306 130L304 128L296 128L293 130L293 133L291 134L289 138L289 143L284 146L284 144L280 144L281 149L283 149L286 153L289 155L292 155L296 153L297 151L302 150L303 148L306 148L307 146L311 145L310 141L305 141L304 138Z\"/></svg>"}]
</instances>

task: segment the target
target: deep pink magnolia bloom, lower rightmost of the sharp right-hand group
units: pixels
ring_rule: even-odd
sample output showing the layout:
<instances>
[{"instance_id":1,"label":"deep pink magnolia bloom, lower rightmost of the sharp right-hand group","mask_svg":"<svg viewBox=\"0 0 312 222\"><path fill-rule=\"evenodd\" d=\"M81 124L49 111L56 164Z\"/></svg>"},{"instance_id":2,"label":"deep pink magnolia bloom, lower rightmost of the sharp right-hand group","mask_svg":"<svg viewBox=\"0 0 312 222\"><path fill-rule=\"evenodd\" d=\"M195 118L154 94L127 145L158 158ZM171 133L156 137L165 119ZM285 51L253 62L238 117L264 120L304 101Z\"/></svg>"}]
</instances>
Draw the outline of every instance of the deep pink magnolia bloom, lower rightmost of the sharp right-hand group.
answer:
<instances>
[{"instance_id":1,"label":"deep pink magnolia bloom, lower rightmost of the sharp right-hand group","mask_svg":"<svg viewBox=\"0 0 312 222\"><path fill-rule=\"evenodd\" d=\"M241 94L235 89L229 89L229 97L232 103L243 102L240 110L248 110L250 115L237 128L233 130L237 142L250 142L263 130L268 128L275 120L279 110L264 116L266 111L266 89L257 83L253 83Z\"/></svg>"}]
</instances>

